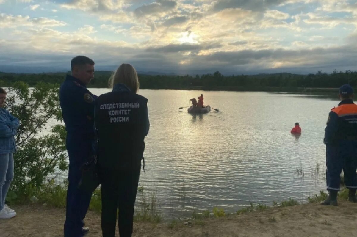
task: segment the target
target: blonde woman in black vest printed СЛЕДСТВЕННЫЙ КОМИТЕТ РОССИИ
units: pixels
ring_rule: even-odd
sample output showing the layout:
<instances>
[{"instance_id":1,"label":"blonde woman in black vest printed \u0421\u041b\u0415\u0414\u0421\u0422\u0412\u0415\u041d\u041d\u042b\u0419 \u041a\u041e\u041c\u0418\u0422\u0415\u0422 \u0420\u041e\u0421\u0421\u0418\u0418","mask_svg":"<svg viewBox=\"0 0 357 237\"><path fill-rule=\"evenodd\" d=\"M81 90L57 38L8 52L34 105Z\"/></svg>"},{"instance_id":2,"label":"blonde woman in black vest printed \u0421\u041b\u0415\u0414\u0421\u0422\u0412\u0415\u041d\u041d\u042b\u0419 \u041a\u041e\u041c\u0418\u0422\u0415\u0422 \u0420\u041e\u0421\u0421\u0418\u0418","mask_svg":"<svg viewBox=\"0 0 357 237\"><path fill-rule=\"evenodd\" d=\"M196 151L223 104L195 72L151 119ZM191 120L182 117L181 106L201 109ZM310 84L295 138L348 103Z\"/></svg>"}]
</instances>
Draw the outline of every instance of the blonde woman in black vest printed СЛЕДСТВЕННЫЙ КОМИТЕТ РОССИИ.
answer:
<instances>
[{"instance_id":1,"label":"blonde woman in black vest printed \u0421\u041b\u0415\u0414\u0421\u0422\u0412\u0415\u041d\u041d\u042b\u0419 \u041a\u041e\u041c\u0418\u0422\u0415\u0422 \u0420\u041e\u0421\u0421\u0418\u0418","mask_svg":"<svg viewBox=\"0 0 357 237\"><path fill-rule=\"evenodd\" d=\"M120 237L129 237L149 115L147 99L136 94L139 79L132 65L122 64L111 77L110 85L112 91L99 96L95 105L102 182L102 234L103 237L115 236L119 209Z\"/></svg>"}]
</instances>

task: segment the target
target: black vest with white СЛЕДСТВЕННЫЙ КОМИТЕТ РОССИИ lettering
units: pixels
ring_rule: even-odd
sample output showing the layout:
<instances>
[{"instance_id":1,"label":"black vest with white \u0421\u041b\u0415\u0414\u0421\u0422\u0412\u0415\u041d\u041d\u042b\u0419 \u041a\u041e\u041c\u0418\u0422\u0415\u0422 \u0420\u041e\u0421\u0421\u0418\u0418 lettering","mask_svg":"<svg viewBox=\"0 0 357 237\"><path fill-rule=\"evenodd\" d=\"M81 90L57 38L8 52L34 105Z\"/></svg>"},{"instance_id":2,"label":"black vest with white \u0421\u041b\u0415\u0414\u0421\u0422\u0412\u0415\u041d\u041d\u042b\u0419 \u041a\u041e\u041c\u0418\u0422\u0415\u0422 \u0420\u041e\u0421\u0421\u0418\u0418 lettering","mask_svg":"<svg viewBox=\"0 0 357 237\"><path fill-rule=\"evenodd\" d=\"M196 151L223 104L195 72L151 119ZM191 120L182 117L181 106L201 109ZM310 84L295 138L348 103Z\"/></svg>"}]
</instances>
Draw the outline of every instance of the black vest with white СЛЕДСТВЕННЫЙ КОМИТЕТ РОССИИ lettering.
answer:
<instances>
[{"instance_id":1,"label":"black vest with white \u0421\u041b\u0415\u0414\u0421\u0422\u0412\u0415\u041d\u041d\u042b\u0419 \u041a\u041e\u041c\u0418\u0422\u0415\u0422 \u0420\u041e\u0421\u0421\u0418\u0418 lettering","mask_svg":"<svg viewBox=\"0 0 357 237\"><path fill-rule=\"evenodd\" d=\"M136 168L143 158L147 99L130 91L109 92L95 104L98 163L111 170Z\"/></svg>"}]
</instances>

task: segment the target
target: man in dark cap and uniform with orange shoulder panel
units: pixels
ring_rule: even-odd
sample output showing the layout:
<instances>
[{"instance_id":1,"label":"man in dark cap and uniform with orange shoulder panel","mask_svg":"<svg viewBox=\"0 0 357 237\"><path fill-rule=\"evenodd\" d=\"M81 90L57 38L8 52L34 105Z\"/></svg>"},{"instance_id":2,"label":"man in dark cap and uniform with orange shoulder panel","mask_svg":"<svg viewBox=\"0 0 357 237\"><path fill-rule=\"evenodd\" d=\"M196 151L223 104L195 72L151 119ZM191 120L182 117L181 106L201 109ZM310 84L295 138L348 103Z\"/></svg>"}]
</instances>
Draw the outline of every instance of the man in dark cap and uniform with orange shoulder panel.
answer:
<instances>
[{"instance_id":1,"label":"man in dark cap and uniform with orange shoulder panel","mask_svg":"<svg viewBox=\"0 0 357 237\"><path fill-rule=\"evenodd\" d=\"M328 115L323 140L326 144L326 182L329 195L321 205L337 206L342 170L345 186L349 189L348 200L357 202L357 105L352 102L354 94L350 85L341 86L338 96L341 102Z\"/></svg>"}]
</instances>

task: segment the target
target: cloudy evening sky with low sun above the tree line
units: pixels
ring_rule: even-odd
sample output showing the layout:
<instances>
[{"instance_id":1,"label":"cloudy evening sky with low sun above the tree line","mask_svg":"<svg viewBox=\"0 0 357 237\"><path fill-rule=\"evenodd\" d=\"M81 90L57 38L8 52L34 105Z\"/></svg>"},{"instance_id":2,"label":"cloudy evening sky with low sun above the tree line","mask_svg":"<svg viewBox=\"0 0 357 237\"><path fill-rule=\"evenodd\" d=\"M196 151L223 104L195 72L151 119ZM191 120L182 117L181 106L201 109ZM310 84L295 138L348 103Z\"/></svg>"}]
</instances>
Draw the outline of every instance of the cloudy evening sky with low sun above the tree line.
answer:
<instances>
[{"instance_id":1,"label":"cloudy evening sky with low sun above the tree line","mask_svg":"<svg viewBox=\"0 0 357 237\"><path fill-rule=\"evenodd\" d=\"M0 0L0 71L357 71L356 0Z\"/></svg>"}]
</instances>

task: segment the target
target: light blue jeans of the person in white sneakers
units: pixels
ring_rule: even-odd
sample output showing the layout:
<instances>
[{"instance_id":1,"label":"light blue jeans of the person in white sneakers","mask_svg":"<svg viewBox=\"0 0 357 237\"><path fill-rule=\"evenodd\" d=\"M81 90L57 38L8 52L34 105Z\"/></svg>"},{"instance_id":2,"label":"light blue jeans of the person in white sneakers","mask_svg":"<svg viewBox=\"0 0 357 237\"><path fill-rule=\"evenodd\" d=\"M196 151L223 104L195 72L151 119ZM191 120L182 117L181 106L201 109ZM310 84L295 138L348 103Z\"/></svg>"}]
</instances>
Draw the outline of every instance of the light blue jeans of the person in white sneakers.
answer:
<instances>
[{"instance_id":1,"label":"light blue jeans of the person in white sneakers","mask_svg":"<svg viewBox=\"0 0 357 237\"><path fill-rule=\"evenodd\" d=\"M14 156L12 153L0 155L0 211L4 209L7 191L14 178Z\"/></svg>"}]
</instances>

